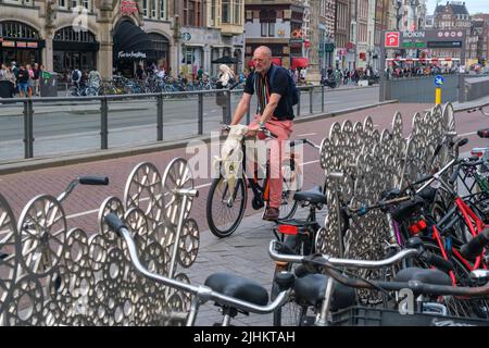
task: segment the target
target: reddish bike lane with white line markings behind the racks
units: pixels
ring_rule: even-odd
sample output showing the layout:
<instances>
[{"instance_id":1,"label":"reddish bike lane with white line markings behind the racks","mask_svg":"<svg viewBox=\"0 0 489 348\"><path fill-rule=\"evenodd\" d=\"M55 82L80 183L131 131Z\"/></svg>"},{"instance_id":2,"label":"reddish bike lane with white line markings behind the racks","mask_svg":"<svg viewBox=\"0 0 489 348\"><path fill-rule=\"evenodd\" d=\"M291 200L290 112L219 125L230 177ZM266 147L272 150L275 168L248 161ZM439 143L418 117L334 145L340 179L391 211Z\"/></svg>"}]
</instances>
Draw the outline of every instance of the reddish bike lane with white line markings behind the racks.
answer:
<instances>
[{"instance_id":1,"label":"reddish bike lane with white line markings behind the racks","mask_svg":"<svg viewBox=\"0 0 489 348\"><path fill-rule=\"evenodd\" d=\"M350 120L353 123L359 121L363 122L366 116L372 116L375 128L379 130L386 127L391 129L391 122L397 111L401 112L403 116L403 133L404 136L408 136L412 128L414 114L416 112L424 114L424 111L431 107L430 104L394 103L340 116L299 123L294 125L291 139L309 138L319 145L329 135L329 128L333 123L338 122L341 124L346 120ZM459 135L463 135L469 139L468 145L461 149L461 153L469 151L473 147L487 146L488 141L478 138L476 132L479 128L489 126L489 117L485 117L479 112L461 112L455 113L455 122ZM206 150L211 153L209 145L206 145ZM73 178L78 176L109 176L109 186L78 186L70 198L63 202L65 214L68 216L68 229L80 227L88 234L91 234L98 231L98 215L96 211L98 211L103 200L109 196L115 196L123 200L127 177L137 164L151 162L159 169L163 176L166 165L174 158L183 157L189 159L193 156L193 152L186 153L185 148L178 148L113 160L2 175L0 176L0 194L5 197L16 219L18 219L25 204L37 195L48 194L55 197ZM318 160L318 151L309 146L304 146L304 189L311 188L314 185L322 185L324 182L324 172L321 169ZM209 169L212 165L211 161L212 159L209 159ZM210 183L211 178L196 178L195 181L195 185L199 187L200 195L195 199L190 216L196 219L201 232L209 229L205 221L205 201ZM246 215L251 215L255 212L251 208L251 204L248 204Z\"/></svg>"}]
</instances>

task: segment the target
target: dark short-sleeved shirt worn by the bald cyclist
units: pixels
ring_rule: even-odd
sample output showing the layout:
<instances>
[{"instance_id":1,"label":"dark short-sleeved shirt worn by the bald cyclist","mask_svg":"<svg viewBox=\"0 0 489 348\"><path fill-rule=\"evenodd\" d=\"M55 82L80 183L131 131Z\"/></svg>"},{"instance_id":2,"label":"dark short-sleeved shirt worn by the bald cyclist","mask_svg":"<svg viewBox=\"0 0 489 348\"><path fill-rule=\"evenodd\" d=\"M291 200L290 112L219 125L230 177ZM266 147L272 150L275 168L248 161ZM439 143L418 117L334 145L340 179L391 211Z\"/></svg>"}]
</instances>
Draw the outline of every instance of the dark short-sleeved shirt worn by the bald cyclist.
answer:
<instances>
[{"instance_id":1,"label":"dark short-sleeved shirt worn by the bald cyclist","mask_svg":"<svg viewBox=\"0 0 489 348\"><path fill-rule=\"evenodd\" d=\"M244 92L249 95L254 95L255 89L258 89L256 97L259 99L259 110L258 113L262 114L265 110L266 103L267 103L267 95L265 94L264 86L267 88L269 96L273 94L280 95L280 100L278 101L277 108L274 111L274 116L278 120L285 121L285 120L293 120L293 108L291 103L291 98L289 94L291 91L289 90L289 84L288 84L288 76L287 71L285 69L277 69L277 72L274 76L274 84L272 86L269 82L269 73L272 71L268 70L268 72L265 75L265 78L260 73L252 73L248 75L247 83L244 85ZM253 75L256 74L256 77L253 78ZM254 84L253 84L254 80Z\"/></svg>"}]
</instances>

